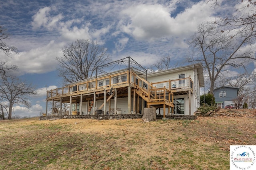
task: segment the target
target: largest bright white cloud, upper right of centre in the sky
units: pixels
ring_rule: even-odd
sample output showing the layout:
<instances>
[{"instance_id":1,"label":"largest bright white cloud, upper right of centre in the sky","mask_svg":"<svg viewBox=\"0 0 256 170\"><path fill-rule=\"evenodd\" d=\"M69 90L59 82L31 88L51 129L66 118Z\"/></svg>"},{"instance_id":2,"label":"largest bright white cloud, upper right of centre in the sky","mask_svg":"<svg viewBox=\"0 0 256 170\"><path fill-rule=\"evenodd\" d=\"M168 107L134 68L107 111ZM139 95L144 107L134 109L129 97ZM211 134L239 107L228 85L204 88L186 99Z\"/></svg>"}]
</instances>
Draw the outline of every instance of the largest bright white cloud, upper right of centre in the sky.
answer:
<instances>
[{"instance_id":1,"label":"largest bright white cloud, upper right of centre in the sky","mask_svg":"<svg viewBox=\"0 0 256 170\"><path fill-rule=\"evenodd\" d=\"M186 48L184 40L196 31L199 23L214 20L214 10L210 4L201 1L173 18L171 11L174 6L134 4L120 12L122 17L113 35L127 33L140 43L164 40L176 47Z\"/></svg>"}]
</instances>

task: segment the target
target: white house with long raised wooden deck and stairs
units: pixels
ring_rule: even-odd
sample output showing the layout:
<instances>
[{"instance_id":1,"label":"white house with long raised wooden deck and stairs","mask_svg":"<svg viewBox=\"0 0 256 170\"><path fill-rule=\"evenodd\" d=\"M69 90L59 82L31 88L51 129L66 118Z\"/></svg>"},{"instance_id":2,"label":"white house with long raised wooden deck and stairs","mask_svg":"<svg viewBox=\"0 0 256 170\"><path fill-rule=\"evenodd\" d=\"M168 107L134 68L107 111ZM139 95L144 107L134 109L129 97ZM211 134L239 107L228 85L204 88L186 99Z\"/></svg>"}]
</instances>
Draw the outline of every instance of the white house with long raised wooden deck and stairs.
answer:
<instances>
[{"instance_id":1,"label":"white house with long raised wooden deck and stairs","mask_svg":"<svg viewBox=\"0 0 256 170\"><path fill-rule=\"evenodd\" d=\"M68 114L143 114L145 107L155 107L164 117L170 113L193 115L200 106L202 64L148 74L130 57L115 62L127 62L128 67L48 90L46 113L48 102L52 108L56 102L61 107L68 103Z\"/></svg>"}]
</instances>

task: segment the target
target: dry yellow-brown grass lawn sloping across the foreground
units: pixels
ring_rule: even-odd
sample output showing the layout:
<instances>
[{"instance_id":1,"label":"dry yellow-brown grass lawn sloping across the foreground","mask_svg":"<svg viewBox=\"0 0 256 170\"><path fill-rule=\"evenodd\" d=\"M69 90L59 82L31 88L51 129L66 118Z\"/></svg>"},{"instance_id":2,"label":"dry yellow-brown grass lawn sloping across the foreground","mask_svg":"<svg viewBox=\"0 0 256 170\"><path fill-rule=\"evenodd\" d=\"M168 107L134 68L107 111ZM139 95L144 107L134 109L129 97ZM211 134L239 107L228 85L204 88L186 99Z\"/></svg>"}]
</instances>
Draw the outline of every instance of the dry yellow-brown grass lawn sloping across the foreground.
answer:
<instances>
[{"instance_id":1,"label":"dry yellow-brown grass lawn sloping across the foreground","mask_svg":"<svg viewBox=\"0 0 256 170\"><path fill-rule=\"evenodd\" d=\"M230 145L256 145L255 110L196 120L0 121L0 169L228 170Z\"/></svg>"}]
</instances>

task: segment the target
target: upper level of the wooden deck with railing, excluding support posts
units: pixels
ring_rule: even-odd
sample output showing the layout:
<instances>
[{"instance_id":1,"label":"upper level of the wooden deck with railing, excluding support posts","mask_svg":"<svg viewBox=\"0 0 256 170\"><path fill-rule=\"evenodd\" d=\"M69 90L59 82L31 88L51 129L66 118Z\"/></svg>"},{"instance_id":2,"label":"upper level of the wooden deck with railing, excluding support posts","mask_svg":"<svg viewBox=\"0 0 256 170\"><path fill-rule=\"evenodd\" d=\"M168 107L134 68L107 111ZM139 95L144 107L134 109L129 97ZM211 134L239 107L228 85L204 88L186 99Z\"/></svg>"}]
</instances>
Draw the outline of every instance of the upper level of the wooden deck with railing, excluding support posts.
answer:
<instances>
[{"instance_id":1,"label":"upper level of the wooden deck with railing, excluding support posts","mask_svg":"<svg viewBox=\"0 0 256 170\"><path fill-rule=\"evenodd\" d=\"M127 90L124 90L124 87L127 86L140 88L147 93L152 93L154 89L167 89L174 93L174 95L188 94L189 90L193 93L193 81L190 77L149 83L144 78L140 78L134 70L125 70L119 73L103 75L98 78L90 78L72 83L68 86L48 90L46 100L57 99L60 97L65 98L79 94L90 94L92 92L100 94L104 92L104 90L109 90L110 88L119 89L118 94L125 96L124 94L126 94Z\"/></svg>"}]
</instances>

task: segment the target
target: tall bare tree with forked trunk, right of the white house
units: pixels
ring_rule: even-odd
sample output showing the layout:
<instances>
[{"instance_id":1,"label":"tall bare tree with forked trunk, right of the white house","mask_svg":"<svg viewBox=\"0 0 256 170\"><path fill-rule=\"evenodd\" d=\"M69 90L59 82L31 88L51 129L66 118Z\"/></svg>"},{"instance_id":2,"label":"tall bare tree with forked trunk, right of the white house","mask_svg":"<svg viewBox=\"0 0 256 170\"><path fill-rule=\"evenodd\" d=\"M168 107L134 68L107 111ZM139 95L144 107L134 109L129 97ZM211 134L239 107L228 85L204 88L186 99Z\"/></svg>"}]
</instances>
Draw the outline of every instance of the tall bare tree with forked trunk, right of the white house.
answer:
<instances>
[{"instance_id":1,"label":"tall bare tree with forked trunk, right of the white house","mask_svg":"<svg viewBox=\"0 0 256 170\"><path fill-rule=\"evenodd\" d=\"M201 62L206 68L210 80L210 92L220 72L228 67L246 68L246 64L256 60L252 43L256 38L255 25L250 24L240 29L225 30L225 26L204 22L191 37L190 44L202 55L188 58L189 62ZM242 50L242 48L246 50Z\"/></svg>"}]
</instances>

